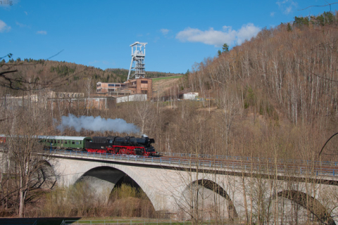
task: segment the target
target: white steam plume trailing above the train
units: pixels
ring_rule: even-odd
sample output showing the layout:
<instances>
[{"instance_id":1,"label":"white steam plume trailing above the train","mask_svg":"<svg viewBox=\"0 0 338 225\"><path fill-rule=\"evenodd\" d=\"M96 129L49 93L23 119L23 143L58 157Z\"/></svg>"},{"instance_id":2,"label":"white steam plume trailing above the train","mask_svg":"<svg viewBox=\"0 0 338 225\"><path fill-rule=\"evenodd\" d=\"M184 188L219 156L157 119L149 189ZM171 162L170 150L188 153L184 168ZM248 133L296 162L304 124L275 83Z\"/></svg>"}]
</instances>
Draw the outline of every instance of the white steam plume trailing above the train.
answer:
<instances>
[{"instance_id":1,"label":"white steam plume trailing above the train","mask_svg":"<svg viewBox=\"0 0 338 225\"><path fill-rule=\"evenodd\" d=\"M99 117L75 117L69 114L68 117L61 117L61 124L56 127L63 131L66 127L74 128L79 132L81 129L89 131L114 131L118 133L139 133L139 128L134 124L127 123L123 119L104 119Z\"/></svg>"}]
</instances>

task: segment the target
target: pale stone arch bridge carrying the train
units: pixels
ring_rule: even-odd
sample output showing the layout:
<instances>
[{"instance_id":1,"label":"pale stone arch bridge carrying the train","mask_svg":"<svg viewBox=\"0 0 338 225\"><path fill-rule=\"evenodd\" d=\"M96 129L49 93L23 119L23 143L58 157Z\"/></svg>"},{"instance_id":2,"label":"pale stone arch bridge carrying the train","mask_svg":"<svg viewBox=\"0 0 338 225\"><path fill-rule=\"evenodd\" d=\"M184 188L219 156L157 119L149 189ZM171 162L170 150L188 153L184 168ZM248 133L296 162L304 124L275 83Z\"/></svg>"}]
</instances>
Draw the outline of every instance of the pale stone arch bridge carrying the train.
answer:
<instances>
[{"instance_id":1,"label":"pale stone arch bridge carrying the train","mask_svg":"<svg viewBox=\"0 0 338 225\"><path fill-rule=\"evenodd\" d=\"M283 223L290 214L279 216L281 209L289 210L291 216L296 212L294 217L326 224L337 224L338 219L334 166L281 167L243 160L138 158L61 150L53 153L49 165L59 186L84 181L107 200L115 184L129 176L156 211L179 219L217 214L245 220L265 213Z\"/></svg>"}]
</instances>

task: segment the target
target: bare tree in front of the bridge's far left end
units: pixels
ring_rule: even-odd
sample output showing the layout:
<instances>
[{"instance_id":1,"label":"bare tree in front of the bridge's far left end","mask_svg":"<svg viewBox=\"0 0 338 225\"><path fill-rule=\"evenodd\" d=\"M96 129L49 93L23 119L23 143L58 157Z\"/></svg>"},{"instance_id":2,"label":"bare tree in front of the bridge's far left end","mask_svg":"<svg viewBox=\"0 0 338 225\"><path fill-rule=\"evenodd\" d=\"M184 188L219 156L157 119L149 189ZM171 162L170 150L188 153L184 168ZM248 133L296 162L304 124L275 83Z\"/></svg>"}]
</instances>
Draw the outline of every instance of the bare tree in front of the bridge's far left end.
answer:
<instances>
[{"instance_id":1,"label":"bare tree in front of the bridge's far left end","mask_svg":"<svg viewBox=\"0 0 338 225\"><path fill-rule=\"evenodd\" d=\"M32 101L35 99L32 95L28 97L18 99L20 101L16 105L8 107L7 114L11 117L3 122L4 127L1 128L1 133L8 135L6 173L11 177L7 181L11 186L6 187L4 197L7 201L11 199L11 205L18 207L19 217L25 217L25 203L32 191L44 185L49 188L53 186L47 185L52 176L46 164L49 152L43 150L42 143L37 139L38 135L44 134L51 119L46 109L41 107L43 104ZM3 186L1 188L4 190Z\"/></svg>"}]
</instances>

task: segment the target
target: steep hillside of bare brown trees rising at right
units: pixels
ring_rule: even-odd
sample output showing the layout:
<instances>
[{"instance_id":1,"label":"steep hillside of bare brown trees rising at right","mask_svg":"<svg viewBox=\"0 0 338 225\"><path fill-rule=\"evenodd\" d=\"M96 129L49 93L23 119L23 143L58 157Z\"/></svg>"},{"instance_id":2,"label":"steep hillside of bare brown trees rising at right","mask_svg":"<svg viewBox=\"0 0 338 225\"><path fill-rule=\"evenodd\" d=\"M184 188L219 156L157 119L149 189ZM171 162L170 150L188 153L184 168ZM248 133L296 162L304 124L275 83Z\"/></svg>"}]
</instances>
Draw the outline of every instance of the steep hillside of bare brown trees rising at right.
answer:
<instances>
[{"instance_id":1,"label":"steep hillside of bare brown trees rising at right","mask_svg":"<svg viewBox=\"0 0 338 225\"><path fill-rule=\"evenodd\" d=\"M337 39L337 15L296 17L196 63L182 86L213 93L221 105L222 98L239 98L265 118L328 128L338 114Z\"/></svg>"}]
</instances>

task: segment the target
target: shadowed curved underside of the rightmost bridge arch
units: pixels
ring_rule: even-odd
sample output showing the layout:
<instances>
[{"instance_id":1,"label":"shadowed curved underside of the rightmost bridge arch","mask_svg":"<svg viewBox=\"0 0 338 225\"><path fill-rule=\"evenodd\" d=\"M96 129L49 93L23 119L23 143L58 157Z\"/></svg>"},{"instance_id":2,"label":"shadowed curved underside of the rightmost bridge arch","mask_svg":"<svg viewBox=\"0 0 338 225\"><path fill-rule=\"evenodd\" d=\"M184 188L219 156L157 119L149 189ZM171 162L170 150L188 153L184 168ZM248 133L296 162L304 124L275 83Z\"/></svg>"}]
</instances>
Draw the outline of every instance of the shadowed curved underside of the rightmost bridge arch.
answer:
<instances>
[{"instance_id":1,"label":"shadowed curved underside of the rightmost bridge arch","mask_svg":"<svg viewBox=\"0 0 338 225\"><path fill-rule=\"evenodd\" d=\"M290 200L297 205L303 207L303 209L311 212L313 219L324 224L335 225L334 219L330 212L327 211L324 205L319 200L311 195L303 193L301 191L284 190L277 193L277 197ZM271 200L275 199L275 195Z\"/></svg>"}]
</instances>

